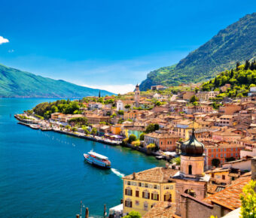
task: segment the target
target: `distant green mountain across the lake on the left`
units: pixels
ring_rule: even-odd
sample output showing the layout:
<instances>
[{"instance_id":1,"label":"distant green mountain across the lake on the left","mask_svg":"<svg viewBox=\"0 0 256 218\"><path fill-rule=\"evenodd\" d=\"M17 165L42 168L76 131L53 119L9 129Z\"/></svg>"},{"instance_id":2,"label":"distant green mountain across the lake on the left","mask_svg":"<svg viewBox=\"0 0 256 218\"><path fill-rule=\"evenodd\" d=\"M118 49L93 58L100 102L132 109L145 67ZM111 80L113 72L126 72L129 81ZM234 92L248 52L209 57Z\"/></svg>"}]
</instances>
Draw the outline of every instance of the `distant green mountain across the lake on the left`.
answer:
<instances>
[{"instance_id":1,"label":"distant green mountain across the lake on the left","mask_svg":"<svg viewBox=\"0 0 256 218\"><path fill-rule=\"evenodd\" d=\"M53 80L0 65L0 97L6 98L81 98L113 93Z\"/></svg>"}]
</instances>

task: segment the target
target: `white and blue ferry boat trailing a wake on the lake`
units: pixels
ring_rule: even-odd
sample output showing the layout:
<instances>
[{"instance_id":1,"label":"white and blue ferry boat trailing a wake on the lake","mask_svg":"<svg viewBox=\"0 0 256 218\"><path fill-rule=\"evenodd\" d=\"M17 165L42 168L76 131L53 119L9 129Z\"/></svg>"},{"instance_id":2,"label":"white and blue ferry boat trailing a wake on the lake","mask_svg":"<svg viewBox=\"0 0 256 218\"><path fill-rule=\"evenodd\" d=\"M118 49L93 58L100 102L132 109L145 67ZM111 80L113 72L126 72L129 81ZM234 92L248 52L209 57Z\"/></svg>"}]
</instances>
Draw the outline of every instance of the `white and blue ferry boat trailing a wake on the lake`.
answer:
<instances>
[{"instance_id":1,"label":"white and blue ferry boat trailing a wake on the lake","mask_svg":"<svg viewBox=\"0 0 256 218\"><path fill-rule=\"evenodd\" d=\"M84 153L84 159L92 165L96 165L101 168L111 168L111 162L108 160L108 157L93 152L93 150L87 154Z\"/></svg>"}]
</instances>

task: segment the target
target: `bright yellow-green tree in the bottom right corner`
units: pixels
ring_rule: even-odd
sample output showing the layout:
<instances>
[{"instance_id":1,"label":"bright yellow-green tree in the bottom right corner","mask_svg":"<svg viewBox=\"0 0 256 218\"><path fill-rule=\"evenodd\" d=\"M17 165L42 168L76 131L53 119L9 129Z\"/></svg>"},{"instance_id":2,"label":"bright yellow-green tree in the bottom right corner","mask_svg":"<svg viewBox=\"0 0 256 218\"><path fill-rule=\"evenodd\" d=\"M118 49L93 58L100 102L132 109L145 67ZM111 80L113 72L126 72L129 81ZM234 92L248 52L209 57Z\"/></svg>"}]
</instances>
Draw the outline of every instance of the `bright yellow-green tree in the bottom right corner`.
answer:
<instances>
[{"instance_id":1,"label":"bright yellow-green tree in the bottom right corner","mask_svg":"<svg viewBox=\"0 0 256 218\"><path fill-rule=\"evenodd\" d=\"M242 218L253 218L256 217L256 193L254 192L256 181L251 180L242 189L240 195L241 200L241 215Z\"/></svg>"}]
</instances>

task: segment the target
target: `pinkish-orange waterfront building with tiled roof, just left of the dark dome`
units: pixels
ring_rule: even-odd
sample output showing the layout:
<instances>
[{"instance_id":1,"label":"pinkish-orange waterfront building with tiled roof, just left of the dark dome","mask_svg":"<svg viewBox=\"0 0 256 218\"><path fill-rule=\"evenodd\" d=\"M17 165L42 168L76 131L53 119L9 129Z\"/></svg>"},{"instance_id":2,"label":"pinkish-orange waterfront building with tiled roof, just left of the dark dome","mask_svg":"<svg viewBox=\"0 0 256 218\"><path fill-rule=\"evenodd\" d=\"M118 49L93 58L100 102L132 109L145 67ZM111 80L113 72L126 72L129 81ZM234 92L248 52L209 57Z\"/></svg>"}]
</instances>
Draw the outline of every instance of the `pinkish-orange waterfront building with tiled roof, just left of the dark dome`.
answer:
<instances>
[{"instance_id":1,"label":"pinkish-orange waterfront building with tiled roof, just left of the dark dome","mask_svg":"<svg viewBox=\"0 0 256 218\"><path fill-rule=\"evenodd\" d=\"M164 151L175 151L178 140L179 137L177 135L170 135L169 133L152 132L144 135L145 146L152 143Z\"/></svg>"}]
</instances>

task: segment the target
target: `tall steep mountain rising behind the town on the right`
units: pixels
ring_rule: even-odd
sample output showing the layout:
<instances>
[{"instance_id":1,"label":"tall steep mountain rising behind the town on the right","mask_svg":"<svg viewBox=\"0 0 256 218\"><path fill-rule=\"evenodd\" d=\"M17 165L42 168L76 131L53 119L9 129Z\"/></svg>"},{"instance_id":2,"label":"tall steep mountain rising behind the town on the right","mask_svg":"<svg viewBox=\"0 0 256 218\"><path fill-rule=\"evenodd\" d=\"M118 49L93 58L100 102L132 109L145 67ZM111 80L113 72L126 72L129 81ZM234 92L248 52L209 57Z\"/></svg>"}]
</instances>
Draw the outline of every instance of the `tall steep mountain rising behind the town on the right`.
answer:
<instances>
[{"instance_id":1,"label":"tall steep mountain rising behind the town on the right","mask_svg":"<svg viewBox=\"0 0 256 218\"><path fill-rule=\"evenodd\" d=\"M151 71L140 89L153 85L197 83L215 77L221 71L235 67L236 62L256 57L256 13L242 17L227 26L210 41L189 53L176 65Z\"/></svg>"}]
</instances>

